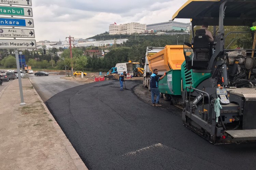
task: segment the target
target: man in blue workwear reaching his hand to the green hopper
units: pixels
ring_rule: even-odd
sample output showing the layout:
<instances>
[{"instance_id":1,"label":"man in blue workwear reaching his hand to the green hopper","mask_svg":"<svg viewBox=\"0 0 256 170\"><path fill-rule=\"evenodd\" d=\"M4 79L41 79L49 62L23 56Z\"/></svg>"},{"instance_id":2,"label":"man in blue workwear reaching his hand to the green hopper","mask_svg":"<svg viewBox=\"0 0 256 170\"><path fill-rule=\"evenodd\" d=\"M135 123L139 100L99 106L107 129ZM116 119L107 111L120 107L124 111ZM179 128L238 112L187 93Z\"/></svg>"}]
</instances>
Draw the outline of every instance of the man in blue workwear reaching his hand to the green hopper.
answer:
<instances>
[{"instance_id":1,"label":"man in blue workwear reaching his hand to the green hopper","mask_svg":"<svg viewBox=\"0 0 256 170\"><path fill-rule=\"evenodd\" d=\"M162 105L159 104L160 91L158 89L158 81L162 80L165 77L165 75L163 75L162 77L158 77L157 74L158 74L158 70L154 69L154 73L151 74L150 76L150 90L151 90L152 106L160 107ZM156 102L155 102L155 95L156 95Z\"/></svg>"}]
</instances>

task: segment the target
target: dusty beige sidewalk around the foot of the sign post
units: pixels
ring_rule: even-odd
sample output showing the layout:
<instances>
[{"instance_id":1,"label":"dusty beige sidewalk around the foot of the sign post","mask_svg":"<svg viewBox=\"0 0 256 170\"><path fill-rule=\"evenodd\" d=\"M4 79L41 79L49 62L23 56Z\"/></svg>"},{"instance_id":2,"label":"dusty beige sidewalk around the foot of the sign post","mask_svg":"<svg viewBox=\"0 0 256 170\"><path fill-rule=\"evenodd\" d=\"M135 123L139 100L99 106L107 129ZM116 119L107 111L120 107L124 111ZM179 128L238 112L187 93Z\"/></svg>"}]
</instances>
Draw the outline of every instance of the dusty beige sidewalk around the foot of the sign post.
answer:
<instances>
[{"instance_id":1,"label":"dusty beige sidewalk around the foot of the sign post","mask_svg":"<svg viewBox=\"0 0 256 170\"><path fill-rule=\"evenodd\" d=\"M26 106L18 80L0 92L0 169L87 169L29 79L22 85Z\"/></svg>"}]
</instances>

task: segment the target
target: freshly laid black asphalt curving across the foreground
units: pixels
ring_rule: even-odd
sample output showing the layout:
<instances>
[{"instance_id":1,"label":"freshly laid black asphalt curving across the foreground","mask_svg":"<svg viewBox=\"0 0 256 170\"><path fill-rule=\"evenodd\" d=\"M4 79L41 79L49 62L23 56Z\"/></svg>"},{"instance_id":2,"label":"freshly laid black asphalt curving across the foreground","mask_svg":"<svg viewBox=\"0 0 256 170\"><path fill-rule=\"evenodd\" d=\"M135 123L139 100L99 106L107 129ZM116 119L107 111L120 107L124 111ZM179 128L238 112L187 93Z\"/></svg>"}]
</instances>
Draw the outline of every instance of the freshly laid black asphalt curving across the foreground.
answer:
<instances>
[{"instance_id":1,"label":"freshly laid black asphalt curving across the foreground","mask_svg":"<svg viewBox=\"0 0 256 170\"><path fill-rule=\"evenodd\" d=\"M255 169L255 143L211 144L141 101L132 92L139 83L85 84L46 102L88 169Z\"/></svg>"}]
</instances>

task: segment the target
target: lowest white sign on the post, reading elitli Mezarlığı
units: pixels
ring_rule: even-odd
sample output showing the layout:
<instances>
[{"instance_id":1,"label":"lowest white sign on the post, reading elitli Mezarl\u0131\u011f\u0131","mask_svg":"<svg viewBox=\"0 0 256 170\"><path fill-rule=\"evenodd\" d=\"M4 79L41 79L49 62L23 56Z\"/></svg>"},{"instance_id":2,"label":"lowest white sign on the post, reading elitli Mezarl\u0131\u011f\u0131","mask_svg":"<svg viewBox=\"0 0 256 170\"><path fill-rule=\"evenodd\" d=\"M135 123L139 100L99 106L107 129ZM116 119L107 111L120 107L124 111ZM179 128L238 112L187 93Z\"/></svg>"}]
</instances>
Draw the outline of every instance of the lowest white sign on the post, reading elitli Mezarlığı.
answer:
<instances>
[{"instance_id":1,"label":"lowest white sign on the post, reading elitli Mezarl\u0131\u011f\u0131","mask_svg":"<svg viewBox=\"0 0 256 170\"><path fill-rule=\"evenodd\" d=\"M34 39L0 39L1 48L36 48Z\"/></svg>"}]
</instances>

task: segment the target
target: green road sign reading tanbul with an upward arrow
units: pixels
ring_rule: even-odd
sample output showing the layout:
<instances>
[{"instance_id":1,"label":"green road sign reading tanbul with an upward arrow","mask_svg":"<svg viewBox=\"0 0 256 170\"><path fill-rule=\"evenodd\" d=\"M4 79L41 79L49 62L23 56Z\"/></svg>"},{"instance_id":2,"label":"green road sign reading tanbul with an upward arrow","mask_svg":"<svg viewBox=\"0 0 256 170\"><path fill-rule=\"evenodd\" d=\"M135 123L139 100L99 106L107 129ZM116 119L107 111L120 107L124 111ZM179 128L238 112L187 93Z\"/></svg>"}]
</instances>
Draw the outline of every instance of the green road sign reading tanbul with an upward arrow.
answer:
<instances>
[{"instance_id":1,"label":"green road sign reading tanbul with an upward arrow","mask_svg":"<svg viewBox=\"0 0 256 170\"><path fill-rule=\"evenodd\" d=\"M32 17L32 8L26 7L12 7L12 6L0 6L0 15L15 15Z\"/></svg>"}]
</instances>

